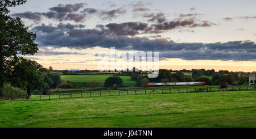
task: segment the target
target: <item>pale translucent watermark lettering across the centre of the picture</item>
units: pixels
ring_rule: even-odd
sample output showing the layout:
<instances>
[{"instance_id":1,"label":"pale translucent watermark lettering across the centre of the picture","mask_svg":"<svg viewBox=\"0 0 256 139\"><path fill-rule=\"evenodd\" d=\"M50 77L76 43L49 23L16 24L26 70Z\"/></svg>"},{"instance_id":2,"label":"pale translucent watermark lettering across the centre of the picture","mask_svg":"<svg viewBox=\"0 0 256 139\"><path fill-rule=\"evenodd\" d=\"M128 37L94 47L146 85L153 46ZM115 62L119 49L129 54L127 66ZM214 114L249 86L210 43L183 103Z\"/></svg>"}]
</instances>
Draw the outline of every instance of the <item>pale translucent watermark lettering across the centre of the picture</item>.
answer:
<instances>
[{"instance_id":1,"label":"pale translucent watermark lettering across the centre of the picture","mask_svg":"<svg viewBox=\"0 0 256 139\"><path fill-rule=\"evenodd\" d=\"M99 52L98 70L103 71L146 71L148 78L156 78L159 74L159 52Z\"/></svg>"}]
</instances>

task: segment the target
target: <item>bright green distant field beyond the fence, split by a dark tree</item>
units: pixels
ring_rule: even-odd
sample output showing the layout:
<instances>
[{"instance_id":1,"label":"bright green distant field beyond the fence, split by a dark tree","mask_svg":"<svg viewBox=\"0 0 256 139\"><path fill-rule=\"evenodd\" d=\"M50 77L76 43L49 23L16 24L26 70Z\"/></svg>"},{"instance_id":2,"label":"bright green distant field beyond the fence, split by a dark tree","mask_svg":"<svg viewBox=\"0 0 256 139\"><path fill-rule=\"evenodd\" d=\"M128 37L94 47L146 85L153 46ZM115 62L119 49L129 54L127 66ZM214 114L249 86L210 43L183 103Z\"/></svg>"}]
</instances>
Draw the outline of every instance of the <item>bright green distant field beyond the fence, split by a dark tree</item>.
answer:
<instances>
[{"instance_id":1,"label":"bright green distant field beyond the fence, split by a dark tree","mask_svg":"<svg viewBox=\"0 0 256 139\"><path fill-rule=\"evenodd\" d=\"M113 74L92 74L92 75L61 75L61 79L66 81L71 81L74 87L83 87L84 82L96 81L98 82L105 81L106 78L112 77ZM123 79L123 86L134 86L135 81L133 81L130 76L120 76Z\"/></svg>"}]
</instances>

